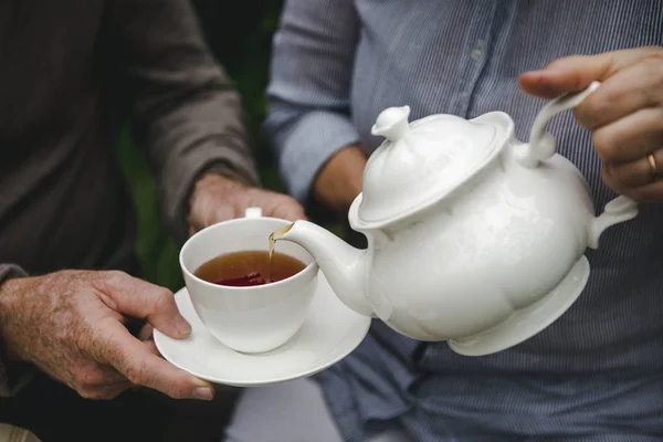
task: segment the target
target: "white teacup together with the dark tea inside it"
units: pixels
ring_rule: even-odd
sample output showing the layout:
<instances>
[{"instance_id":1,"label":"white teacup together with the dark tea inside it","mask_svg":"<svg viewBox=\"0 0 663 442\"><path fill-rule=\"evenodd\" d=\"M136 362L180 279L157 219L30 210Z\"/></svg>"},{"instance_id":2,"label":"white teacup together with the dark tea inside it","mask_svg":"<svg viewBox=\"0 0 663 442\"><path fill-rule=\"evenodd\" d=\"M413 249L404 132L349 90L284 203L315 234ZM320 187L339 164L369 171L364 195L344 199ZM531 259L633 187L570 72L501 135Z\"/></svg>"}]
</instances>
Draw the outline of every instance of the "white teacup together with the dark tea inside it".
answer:
<instances>
[{"instance_id":1,"label":"white teacup together with the dark tea inside it","mask_svg":"<svg viewBox=\"0 0 663 442\"><path fill-rule=\"evenodd\" d=\"M267 243L292 222L260 214L249 208L246 218L200 230L179 255L200 320L223 345L246 354L271 351L292 339L318 286L319 267L311 253L291 241L280 242L277 250Z\"/></svg>"}]
</instances>

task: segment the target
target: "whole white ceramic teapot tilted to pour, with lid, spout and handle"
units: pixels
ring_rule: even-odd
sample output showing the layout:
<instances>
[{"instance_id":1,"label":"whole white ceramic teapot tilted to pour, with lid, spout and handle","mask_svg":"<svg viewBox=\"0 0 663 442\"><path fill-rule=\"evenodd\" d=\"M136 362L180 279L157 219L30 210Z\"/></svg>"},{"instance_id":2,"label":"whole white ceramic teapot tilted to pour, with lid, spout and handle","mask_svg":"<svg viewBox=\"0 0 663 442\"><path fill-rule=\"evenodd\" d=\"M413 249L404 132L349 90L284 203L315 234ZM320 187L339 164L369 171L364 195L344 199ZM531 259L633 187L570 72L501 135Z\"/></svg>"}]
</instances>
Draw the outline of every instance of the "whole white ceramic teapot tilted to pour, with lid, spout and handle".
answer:
<instances>
[{"instance_id":1,"label":"whole white ceramic teapot tilted to pour, with lid, spout and handle","mask_svg":"<svg viewBox=\"0 0 663 442\"><path fill-rule=\"evenodd\" d=\"M308 250L347 306L402 335L467 356L519 344L580 295L587 248L638 214L618 197L596 217L586 180L545 131L598 85L548 103L529 144L502 112L409 123L408 106L388 108L372 128L387 139L348 215L368 249L308 221L275 236Z\"/></svg>"}]
</instances>

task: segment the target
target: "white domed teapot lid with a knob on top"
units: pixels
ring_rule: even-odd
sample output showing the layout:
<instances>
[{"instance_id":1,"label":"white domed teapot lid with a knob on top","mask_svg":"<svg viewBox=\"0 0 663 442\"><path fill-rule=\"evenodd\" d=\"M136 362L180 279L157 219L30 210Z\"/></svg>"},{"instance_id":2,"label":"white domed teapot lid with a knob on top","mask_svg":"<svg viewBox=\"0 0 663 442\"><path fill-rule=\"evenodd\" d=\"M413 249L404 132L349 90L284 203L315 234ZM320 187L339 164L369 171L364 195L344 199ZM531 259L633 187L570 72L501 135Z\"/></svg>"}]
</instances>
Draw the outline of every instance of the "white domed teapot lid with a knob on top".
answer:
<instances>
[{"instance_id":1,"label":"white domed teapot lid with a knob on top","mask_svg":"<svg viewBox=\"0 0 663 442\"><path fill-rule=\"evenodd\" d=\"M358 225L378 227L440 201L499 154L513 131L513 120L501 112L471 120L439 114L412 123L409 115L409 106L389 107L372 126L386 140L370 156L350 210Z\"/></svg>"}]
</instances>

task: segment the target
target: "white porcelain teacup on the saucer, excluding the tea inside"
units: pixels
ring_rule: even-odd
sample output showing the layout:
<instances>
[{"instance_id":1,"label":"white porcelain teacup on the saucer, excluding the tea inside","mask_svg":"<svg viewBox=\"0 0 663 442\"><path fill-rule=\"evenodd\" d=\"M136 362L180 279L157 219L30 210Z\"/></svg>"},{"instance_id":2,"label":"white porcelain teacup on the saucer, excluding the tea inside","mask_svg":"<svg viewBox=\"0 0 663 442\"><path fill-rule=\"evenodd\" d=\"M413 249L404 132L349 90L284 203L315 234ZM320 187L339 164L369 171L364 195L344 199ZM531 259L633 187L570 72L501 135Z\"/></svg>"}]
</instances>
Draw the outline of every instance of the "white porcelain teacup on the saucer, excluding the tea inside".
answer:
<instances>
[{"instance_id":1,"label":"white porcelain teacup on the saucer, excluding the tea inside","mask_svg":"<svg viewBox=\"0 0 663 442\"><path fill-rule=\"evenodd\" d=\"M236 287L212 284L193 273L222 254L267 251L270 234L290 224L263 218L259 208L250 208L245 218L196 233L180 251L180 266L196 313L212 336L233 350L264 352L287 343L306 319L317 287L318 265L302 246L284 241L277 243L276 251L306 264L288 278Z\"/></svg>"}]
</instances>

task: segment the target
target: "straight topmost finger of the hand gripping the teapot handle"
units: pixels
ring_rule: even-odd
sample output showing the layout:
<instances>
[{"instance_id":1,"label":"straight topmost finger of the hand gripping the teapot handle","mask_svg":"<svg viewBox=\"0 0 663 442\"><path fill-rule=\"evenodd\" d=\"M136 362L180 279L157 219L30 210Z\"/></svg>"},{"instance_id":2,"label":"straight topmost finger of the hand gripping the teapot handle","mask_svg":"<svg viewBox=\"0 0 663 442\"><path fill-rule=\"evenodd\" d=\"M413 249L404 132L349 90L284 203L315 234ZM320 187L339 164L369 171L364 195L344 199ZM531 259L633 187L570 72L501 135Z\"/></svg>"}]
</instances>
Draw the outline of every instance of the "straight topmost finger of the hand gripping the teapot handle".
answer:
<instances>
[{"instance_id":1,"label":"straight topmost finger of the hand gripping the teapot handle","mask_svg":"<svg viewBox=\"0 0 663 442\"><path fill-rule=\"evenodd\" d=\"M604 81L619 70L644 56L656 54L656 48L638 48L598 55L572 55L558 59L540 71L520 75L523 91L541 98L554 98L567 92L582 91L593 81Z\"/></svg>"}]
</instances>

